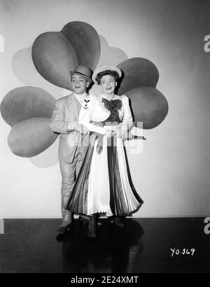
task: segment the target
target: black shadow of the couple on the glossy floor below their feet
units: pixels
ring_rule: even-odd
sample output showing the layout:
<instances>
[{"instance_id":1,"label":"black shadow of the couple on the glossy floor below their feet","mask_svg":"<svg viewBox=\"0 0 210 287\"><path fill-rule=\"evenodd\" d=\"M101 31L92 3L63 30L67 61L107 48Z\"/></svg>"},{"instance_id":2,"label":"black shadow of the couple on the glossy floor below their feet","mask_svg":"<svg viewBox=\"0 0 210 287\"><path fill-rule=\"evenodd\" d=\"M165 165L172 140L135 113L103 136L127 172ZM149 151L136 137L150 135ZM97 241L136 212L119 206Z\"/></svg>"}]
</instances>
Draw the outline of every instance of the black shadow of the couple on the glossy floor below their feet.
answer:
<instances>
[{"instance_id":1,"label":"black shadow of the couple on the glossy floor below their feet","mask_svg":"<svg viewBox=\"0 0 210 287\"><path fill-rule=\"evenodd\" d=\"M77 224L73 232L58 237L62 243L64 272L132 272L143 248L144 231L136 221L117 228L107 220L98 228L97 238L88 238Z\"/></svg>"}]
</instances>

